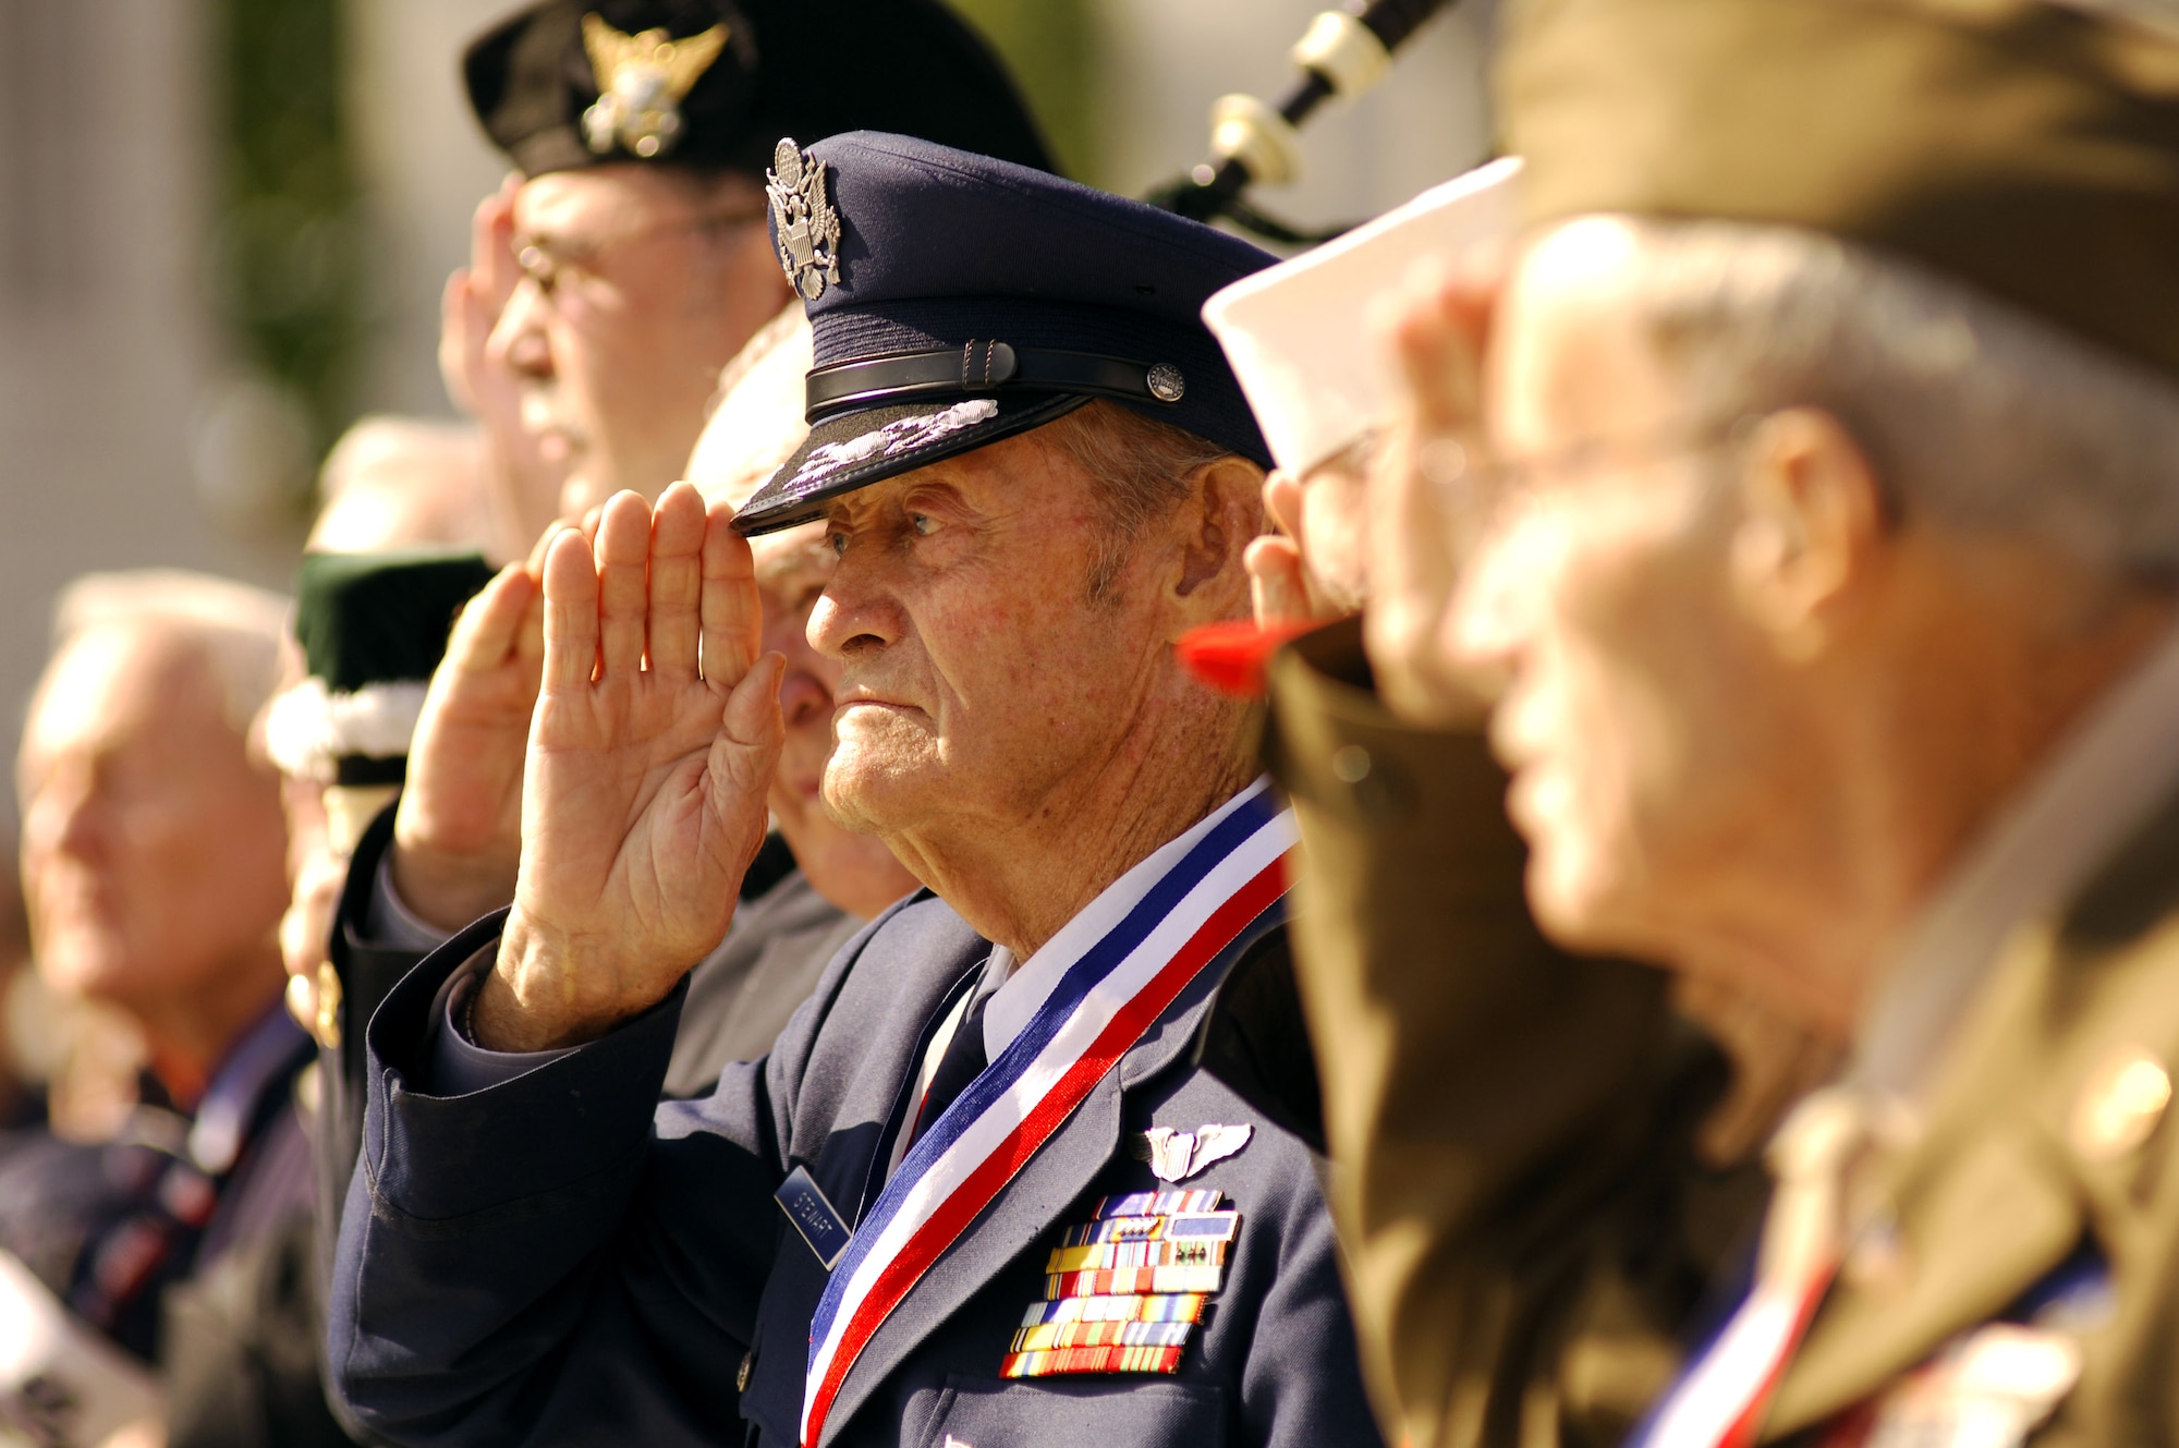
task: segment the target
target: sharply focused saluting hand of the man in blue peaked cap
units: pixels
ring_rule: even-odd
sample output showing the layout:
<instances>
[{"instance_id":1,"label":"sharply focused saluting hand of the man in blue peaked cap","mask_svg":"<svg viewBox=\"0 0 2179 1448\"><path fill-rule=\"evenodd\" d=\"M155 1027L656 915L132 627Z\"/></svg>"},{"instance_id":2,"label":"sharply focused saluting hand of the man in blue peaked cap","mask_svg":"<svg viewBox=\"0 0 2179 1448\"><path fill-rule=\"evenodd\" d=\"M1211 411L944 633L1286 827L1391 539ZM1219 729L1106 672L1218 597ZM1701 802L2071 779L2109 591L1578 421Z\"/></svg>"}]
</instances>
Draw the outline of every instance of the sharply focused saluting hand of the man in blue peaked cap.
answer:
<instances>
[{"instance_id":1,"label":"sharply focused saluting hand of the man in blue peaked cap","mask_svg":"<svg viewBox=\"0 0 2179 1448\"><path fill-rule=\"evenodd\" d=\"M521 874L477 1042L575 1045L649 1010L719 940L765 837L778 654L758 659L750 545L675 482L545 554L545 683Z\"/></svg>"}]
</instances>

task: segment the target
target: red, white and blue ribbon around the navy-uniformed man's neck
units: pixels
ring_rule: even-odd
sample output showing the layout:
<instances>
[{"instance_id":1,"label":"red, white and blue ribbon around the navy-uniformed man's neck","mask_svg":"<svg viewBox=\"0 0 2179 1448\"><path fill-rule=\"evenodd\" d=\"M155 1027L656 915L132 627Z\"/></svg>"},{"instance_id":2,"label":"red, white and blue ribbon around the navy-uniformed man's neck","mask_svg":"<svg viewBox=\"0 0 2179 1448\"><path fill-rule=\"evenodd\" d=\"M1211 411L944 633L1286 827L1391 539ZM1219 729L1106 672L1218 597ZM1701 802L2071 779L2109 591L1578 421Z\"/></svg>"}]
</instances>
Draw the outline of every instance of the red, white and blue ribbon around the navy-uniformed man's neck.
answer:
<instances>
[{"instance_id":1,"label":"red, white and blue ribbon around the navy-uniformed man's neck","mask_svg":"<svg viewBox=\"0 0 2179 1448\"><path fill-rule=\"evenodd\" d=\"M1229 803L1133 909L1081 949L1013 1042L909 1147L817 1302L802 1444L819 1441L854 1359L930 1265L1203 966L1279 907L1297 842L1294 818L1268 785Z\"/></svg>"}]
</instances>

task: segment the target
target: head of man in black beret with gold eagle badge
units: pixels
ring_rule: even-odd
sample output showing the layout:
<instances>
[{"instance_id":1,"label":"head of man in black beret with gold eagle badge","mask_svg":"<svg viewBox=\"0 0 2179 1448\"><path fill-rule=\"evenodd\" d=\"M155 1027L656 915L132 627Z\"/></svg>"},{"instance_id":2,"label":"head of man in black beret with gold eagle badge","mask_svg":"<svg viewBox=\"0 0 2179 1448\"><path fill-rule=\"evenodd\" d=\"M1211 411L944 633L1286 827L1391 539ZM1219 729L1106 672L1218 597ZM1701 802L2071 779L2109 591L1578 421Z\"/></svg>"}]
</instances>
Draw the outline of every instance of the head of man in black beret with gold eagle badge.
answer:
<instances>
[{"instance_id":1,"label":"head of man in black beret with gold eagle badge","mask_svg":"<svg viewBox=\"0 0 2179 1448\"><path fill-rule=\"evenodd\" d=\"M998 61L935 0L547 0L464 72L523 172L484 362L519 379L567 519L621 488L656 499L719 369L793 294L765 201L782 135L902 131L1048 166Z\"/></svg>"}]
</instances>

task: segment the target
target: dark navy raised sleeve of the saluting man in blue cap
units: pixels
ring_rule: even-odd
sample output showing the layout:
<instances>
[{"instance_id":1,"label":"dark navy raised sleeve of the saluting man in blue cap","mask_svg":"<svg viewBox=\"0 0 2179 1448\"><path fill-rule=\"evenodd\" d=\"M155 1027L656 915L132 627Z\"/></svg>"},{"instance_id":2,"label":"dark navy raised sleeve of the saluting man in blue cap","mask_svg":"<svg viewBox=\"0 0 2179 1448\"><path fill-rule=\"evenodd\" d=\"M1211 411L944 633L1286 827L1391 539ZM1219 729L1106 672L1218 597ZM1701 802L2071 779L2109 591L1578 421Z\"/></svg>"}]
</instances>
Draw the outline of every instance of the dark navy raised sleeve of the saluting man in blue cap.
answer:
<instances>
[{"instance_id":1,"label":"dark navy raised sleeve of the saluting man in blue cap","mask_svg":"<svg viewBox=\"0 0 2179 1448\"><path fill-rule=\"evenodd\" d=\"M429 1095L440 988L501 920L431 953L370 1023L333 1385L403 1444L737 1437L719 1378L754 1330L798 1071L856 942L771 1058L708 1099L658 1101L682 992L506 1084Z\"/></svg>"}]
</instances>

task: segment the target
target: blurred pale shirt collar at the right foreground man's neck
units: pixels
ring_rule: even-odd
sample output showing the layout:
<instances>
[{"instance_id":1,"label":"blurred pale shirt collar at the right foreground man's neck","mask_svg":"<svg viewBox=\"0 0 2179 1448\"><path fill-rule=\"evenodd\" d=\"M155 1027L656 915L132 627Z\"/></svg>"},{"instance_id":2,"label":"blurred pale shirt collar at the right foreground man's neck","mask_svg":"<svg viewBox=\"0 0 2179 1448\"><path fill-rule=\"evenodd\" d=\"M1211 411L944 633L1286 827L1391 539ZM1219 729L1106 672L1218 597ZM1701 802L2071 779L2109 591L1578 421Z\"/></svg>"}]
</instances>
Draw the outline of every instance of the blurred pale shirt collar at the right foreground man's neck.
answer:
<instances>
[{"instance_id":1,"label":"blurred pale shirt collar at the right foreground man's neck","mask_svg":"<svg viewBox=\"0 0 2179 1448\"><path fill-rule=\"evenodd\" d=\"M1848 1084L1915 1101L2007 936L2072 898L2179 787L2179 632L2107 693L1900 938Z\"/></svg>"}]
</instances>

